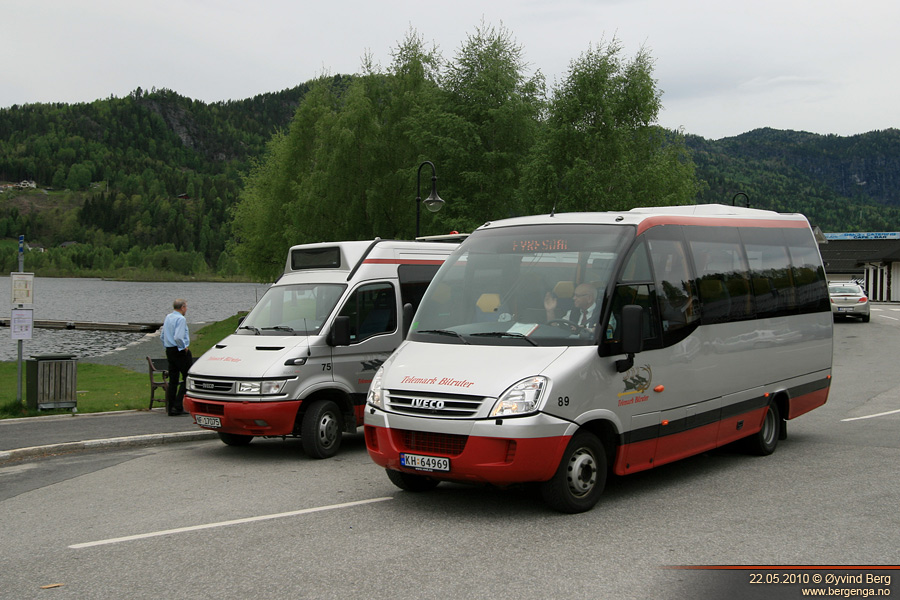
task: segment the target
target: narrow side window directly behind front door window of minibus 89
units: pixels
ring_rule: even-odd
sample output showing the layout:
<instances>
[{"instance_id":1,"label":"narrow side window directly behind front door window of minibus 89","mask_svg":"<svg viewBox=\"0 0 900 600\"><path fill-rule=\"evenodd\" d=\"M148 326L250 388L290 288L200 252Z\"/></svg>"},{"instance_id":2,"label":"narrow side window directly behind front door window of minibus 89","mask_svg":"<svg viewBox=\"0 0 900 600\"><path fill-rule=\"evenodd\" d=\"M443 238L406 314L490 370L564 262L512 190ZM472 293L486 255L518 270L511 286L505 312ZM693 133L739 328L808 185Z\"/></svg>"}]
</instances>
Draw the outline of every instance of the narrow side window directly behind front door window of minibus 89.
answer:
<instances>
[{"instance_id":1,"label":"narrow side window directly behind front door window of minibus 89","mask_svg":"<svg viewBox=\"0 0 900 600\"><path fill-rule=\"evenodd\" d=\"M650 235L653 235L652 230ZM674 231L670 235L680 237L680 231ZM663 341L668 346L684 339L700 324L700 302L697 300L696 284L691 277L684 242L680 239L651 237L649 245Z\"/></svg>"}]
</instances>

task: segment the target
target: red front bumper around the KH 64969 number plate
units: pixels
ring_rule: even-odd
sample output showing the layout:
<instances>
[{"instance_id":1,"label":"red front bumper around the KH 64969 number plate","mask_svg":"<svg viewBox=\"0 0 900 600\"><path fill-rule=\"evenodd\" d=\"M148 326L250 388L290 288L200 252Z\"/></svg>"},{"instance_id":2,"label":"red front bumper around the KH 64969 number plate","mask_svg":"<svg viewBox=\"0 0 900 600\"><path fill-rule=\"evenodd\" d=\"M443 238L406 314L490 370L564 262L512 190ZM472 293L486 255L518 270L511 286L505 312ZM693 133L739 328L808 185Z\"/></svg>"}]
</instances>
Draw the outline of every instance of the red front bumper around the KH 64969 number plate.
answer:
<instances>
[{"instance_id":1,"label":"red front bumper around the KH 64969 number plate","mask_svg":"<svg viewBox=\"0 0 900 600\"><path fill-rule=\"evenodd\" d=\"M556 472L569 437L489 438L408 432L366 425L366 448L376 464L387 469L423 473L400 466L400 453L443 456L450 459L447 473L429 477L508 485L547 481Z\"/></svg>"}]
</instances>

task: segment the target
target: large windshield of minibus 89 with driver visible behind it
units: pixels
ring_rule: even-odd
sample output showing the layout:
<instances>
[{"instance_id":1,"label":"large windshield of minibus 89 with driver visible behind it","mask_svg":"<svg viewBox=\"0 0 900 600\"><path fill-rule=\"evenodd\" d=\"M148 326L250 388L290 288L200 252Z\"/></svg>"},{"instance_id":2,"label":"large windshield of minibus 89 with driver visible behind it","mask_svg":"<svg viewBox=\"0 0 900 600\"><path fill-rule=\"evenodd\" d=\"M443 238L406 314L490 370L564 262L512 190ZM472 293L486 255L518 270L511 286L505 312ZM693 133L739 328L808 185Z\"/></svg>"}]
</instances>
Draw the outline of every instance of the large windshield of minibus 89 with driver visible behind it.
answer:
<instances>
[{"instance_id":1,"label":"large windshield of minibus 89 with driver visible behind it","mask_svg":"<svg viewBox=\"0 0 900 600\"><path fill-rule=\"evenodd\" d=\"M474 233L444 263L410 339L447 344L587 345L634 229L542 225Z\"/></svg>"}]
</instances>

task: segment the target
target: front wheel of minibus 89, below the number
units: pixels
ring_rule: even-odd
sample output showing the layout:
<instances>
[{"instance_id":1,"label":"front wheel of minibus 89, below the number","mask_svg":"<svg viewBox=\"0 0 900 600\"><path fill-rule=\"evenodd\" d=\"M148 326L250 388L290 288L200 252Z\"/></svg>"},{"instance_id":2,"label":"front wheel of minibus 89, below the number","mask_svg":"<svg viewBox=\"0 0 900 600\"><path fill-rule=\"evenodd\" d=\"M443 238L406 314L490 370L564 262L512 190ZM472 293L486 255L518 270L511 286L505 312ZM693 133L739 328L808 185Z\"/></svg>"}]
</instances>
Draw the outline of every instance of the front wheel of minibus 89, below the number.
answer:
<instances>
[{"instance_id":1,"label":"front wheel of minibus 89, below the number","mask_svg":"<svg viewBox=\"0 0 900 600\"><path fill-rule=\"evenodd\" d=\"M541 496L551 508L580 513L597 504L606 485L607 460L603 444L592 433L572 436L556 473L540 485Z\"/></svg>"}]
</instances>

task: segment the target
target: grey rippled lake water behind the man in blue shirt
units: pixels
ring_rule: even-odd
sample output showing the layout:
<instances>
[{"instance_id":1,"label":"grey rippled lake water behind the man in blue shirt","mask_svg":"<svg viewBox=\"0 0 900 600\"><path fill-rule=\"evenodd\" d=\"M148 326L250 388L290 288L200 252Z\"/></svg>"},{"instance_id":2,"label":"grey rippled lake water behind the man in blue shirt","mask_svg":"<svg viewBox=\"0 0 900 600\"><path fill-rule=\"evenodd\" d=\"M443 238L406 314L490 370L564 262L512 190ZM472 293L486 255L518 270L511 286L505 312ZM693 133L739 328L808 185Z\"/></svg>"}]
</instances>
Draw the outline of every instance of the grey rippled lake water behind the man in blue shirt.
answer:
<instances>
[{"instance_id":1,"label":"grey rippled lake water behind the man in blue shirt","mask_svg":"<svg viewBox=\"0 0 900 600\"><path fill-rule=\"evenodd\" d=\"M34 278L34 319L107 323L162 323L172 312L172 301L188 303L189 324L221 321L256 305L268 284L209 282L130 282L103 279ZM12 298L9 277L0 277L0 294ZM9 317L7 312L5 317ZM22 356L74 354L99 356L147 334L89 330L33 329L24 340ZM8 327L0 327L0 360L16 360L18 342Z\"/></svg>"}]
</instances>

